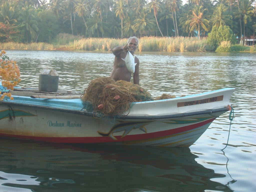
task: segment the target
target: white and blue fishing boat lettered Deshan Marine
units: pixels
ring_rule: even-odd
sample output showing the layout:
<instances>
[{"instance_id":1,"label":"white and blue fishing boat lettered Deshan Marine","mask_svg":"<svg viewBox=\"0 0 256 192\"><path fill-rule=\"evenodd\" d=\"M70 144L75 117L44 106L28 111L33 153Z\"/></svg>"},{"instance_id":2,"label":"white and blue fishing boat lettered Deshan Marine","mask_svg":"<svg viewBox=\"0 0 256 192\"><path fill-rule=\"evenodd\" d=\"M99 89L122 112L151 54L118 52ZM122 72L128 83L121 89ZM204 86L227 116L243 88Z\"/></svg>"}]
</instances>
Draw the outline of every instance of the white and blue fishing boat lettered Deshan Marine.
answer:
<instances>
[{"instance_id":1,"label":"white and blue fishing boat lettered Deshan Marine","mask_svg":"<svg viewBox=\"0 0 256 192\"><path fill-rule=\"evenodd\" d=\"M135 102L125 115L97 118L97 114L84 109L80 95L74 96L76 92L40 96L32 88L15 88L14 100L0 102L0 137L54 143L189 147L217 117L231 109L233 91L234 88L224 88Z\"/></svg>"}]
</instances>

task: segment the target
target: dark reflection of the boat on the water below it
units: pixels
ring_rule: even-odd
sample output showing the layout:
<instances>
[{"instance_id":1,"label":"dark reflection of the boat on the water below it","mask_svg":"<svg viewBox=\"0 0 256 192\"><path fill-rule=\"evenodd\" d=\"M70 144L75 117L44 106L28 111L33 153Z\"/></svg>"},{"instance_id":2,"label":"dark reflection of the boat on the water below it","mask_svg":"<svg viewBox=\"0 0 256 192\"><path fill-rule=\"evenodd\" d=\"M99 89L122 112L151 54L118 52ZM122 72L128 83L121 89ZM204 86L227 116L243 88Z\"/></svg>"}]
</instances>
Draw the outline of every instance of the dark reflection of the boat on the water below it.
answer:
<instances>
[{"instance_id":1,"label":"dark reflection of the boat on the water below it","mask_svg":"<svg viewBox=\"0 0 256 192\"><path fill-rule=\"evenodd\" d=\"M232 191L189 148L0 144L1 191Z\"/></svg>"}]
</instances>

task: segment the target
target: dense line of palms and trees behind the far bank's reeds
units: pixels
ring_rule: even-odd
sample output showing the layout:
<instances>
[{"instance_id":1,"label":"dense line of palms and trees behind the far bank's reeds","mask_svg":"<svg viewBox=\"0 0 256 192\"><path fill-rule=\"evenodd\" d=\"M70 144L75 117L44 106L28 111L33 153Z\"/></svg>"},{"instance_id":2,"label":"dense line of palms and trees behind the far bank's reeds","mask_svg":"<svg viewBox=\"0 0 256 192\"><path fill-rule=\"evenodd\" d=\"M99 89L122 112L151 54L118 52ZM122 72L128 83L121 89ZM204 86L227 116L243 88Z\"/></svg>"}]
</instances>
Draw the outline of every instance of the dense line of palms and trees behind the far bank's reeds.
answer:
<instances>
[{"instance_id":1,"label":"dense line of palms and trees behind the far bank's reeds","mask_svg":"<svg viewBox=\"0 0 256 192\"><path fill-rule=\"evenodd\" d=\"M229 26L255 36L255 0L0 0L0 41L51 42L82 37L204 37Z\"/></svg>"}]
</instances>

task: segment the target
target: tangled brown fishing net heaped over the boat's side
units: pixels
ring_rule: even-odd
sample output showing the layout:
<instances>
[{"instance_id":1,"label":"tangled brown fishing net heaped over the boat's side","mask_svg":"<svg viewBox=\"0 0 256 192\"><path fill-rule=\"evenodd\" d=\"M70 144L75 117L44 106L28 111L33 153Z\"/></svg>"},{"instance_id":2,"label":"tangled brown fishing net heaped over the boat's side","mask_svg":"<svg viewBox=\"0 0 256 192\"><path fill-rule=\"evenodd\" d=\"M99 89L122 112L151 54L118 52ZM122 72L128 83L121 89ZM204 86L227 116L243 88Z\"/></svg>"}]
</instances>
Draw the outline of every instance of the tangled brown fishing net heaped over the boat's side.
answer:
<instances>
[{"instance_id":1,"label":"tangled brown fishing net heaped over the boat's side","mask_svg":"<svg viewBox=\"0 0 256 192\"><path fill-rule=\"evenodd\" d=\"M84 108L95 112L94 116L97 118L127 115L132 102L153 100L151 94L139 85L127 81L115 81L110 77L92 80L81 99Z\"/></svg>"}]
</instances>

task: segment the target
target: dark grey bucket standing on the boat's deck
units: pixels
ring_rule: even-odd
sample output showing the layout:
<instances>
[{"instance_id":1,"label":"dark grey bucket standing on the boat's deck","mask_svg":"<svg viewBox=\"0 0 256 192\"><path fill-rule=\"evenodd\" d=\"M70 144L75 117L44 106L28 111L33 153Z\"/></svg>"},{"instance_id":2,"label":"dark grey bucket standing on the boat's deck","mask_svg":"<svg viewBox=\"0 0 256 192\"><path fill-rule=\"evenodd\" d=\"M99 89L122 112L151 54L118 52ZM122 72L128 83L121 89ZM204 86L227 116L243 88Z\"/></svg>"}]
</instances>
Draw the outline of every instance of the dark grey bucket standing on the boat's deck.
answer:
<instances>
[{"instance_id":1,"label":"dark grey bucket standing on the boat's deck","mask_svg":"<svg viewBox=\"0 0 256 192\"><path fill-rule=\"evenodd\" d=\"M39 91L56 92L58 91L59 76L39 74Z\"/></svg>"}]
</instances>

